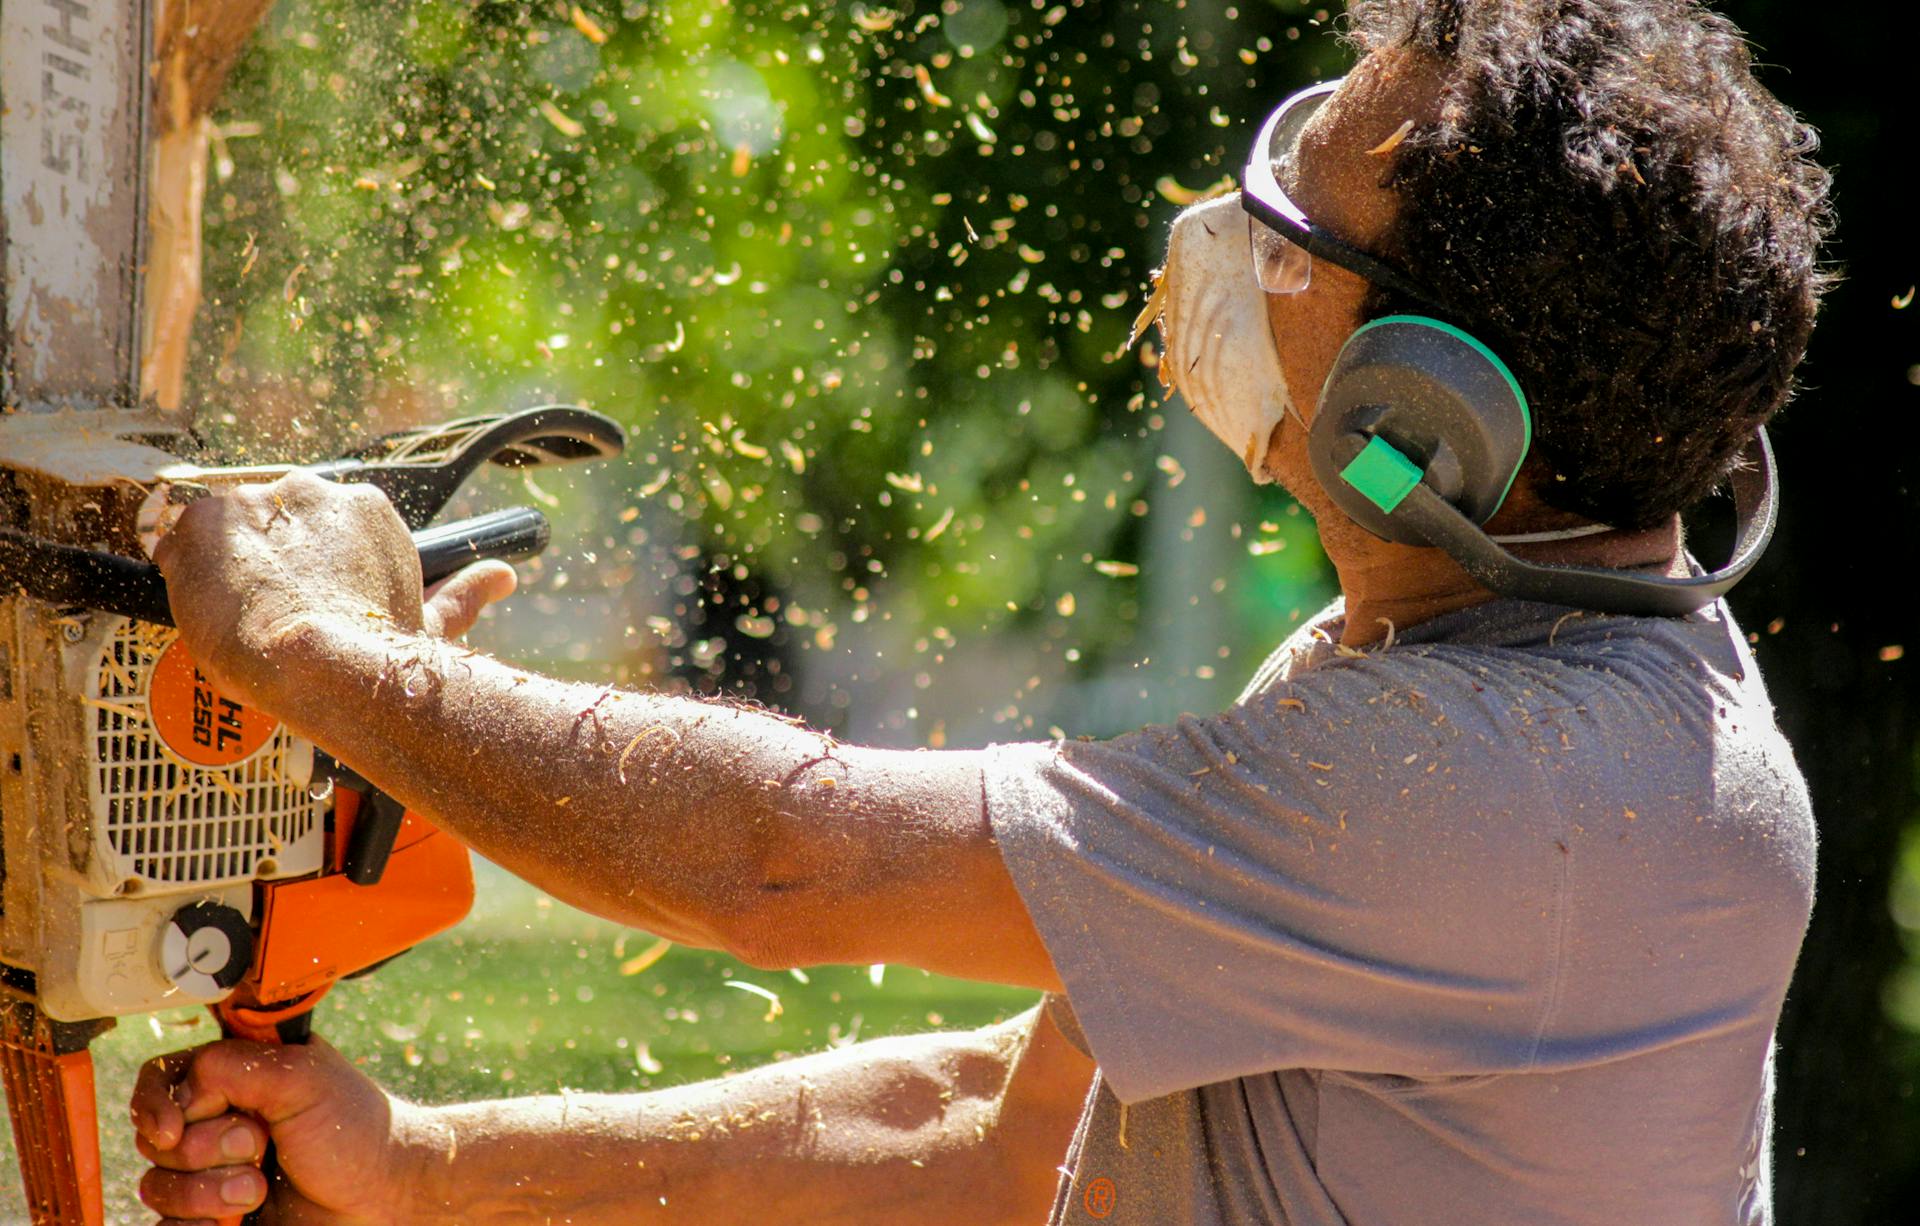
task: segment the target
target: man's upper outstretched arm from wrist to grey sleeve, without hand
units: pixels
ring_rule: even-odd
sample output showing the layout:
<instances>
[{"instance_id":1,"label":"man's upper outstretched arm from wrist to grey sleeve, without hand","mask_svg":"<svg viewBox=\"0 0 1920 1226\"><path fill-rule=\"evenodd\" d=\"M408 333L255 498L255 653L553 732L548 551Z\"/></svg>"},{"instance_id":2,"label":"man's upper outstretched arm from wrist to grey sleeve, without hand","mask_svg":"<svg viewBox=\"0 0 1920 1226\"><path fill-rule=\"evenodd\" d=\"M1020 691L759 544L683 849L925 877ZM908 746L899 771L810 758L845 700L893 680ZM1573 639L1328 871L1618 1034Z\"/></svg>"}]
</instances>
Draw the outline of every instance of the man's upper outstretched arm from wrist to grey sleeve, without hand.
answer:
<instances>
[{"instance_id":1,"label":"man's upper outstretched arm from wrist to grey sleeve, without hand","mask_svg":"<svg viewBox=\"0 0 1920 1226\"><path fill-rule=\"evenodd\" d=\"M305 624L271 656L298 731L584 909L760 965L1054 984L985 833L973 754L860 750L756 710L559 683L376 618ZM979 913L1021 931L956 923Z\"/></svg>"}]
</instances>

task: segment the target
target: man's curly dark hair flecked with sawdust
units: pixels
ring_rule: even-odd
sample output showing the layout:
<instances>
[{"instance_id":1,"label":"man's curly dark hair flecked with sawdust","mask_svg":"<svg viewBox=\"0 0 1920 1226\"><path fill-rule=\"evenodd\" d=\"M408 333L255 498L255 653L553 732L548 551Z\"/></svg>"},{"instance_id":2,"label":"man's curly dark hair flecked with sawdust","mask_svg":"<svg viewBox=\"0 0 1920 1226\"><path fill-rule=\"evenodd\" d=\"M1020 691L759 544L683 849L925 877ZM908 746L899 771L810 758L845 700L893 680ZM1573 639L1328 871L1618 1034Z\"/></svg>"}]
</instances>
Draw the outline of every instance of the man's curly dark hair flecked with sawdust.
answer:
<instances>
[{"instance_id":1,"label":"man's curly dark hair flecked with sawdust","mask_svg":"<svg viewBox=\"0 0 1920 1226\"><path fill-rule=\"evenodd\" d=\"M1830 280L1830 177L1740 31L1693 0L1356 0L1348 36L1440 67L1390 246L1519 376L1538 495L1644 528L1711 493Z\"/></svg>"}]
</instances>

